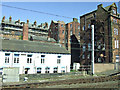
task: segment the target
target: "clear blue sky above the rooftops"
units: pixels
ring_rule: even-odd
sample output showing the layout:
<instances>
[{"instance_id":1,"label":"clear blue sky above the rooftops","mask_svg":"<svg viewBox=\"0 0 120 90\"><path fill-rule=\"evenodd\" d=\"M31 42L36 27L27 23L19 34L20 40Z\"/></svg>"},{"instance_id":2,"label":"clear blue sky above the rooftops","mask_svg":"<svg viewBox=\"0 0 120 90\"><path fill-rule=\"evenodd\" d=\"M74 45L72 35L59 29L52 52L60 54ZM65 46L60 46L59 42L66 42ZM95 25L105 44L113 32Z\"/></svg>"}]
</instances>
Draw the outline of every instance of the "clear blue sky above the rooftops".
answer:
<instances>
[{"instance_id":1,"label":"clear blue sky above the rooftops","mask_svg":"<svg viewBox=\"0 0 120 90\"><path fill-rule=\"evenodd\" d=\"M106 7L112 3L113 2L2 2L2 5L35 10L38 12L2 6L1 16L5 16L6 19L9 19L9 17L12 16L13 20L20 19L20 21L24 22L27 22L27 19L29 19L30 23L34 23L36 20L38 25L44 22L50 24L51 20L60 20L68 23L72 21L72 18L77 18L78 21L80 21L79 19L81 15L96 10L97 5L99 4L103 4L103 7ZM115 3L118 6L118 2ZM49 15L49 13L59 15L60 17Z\"/></svg>"}]
</instances>

